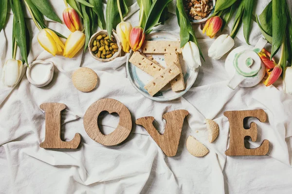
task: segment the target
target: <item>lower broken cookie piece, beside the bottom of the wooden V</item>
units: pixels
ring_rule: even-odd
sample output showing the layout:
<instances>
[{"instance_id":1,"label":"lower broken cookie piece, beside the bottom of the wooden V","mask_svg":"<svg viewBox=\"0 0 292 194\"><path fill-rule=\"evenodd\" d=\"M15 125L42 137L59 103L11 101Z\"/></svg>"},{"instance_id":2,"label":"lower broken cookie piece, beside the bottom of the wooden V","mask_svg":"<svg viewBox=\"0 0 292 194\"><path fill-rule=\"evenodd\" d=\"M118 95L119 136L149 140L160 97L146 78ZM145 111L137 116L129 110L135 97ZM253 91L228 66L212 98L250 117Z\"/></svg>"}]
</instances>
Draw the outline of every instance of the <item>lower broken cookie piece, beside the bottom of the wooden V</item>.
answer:
<instances>
[{"instance_id":1,"label":"lower broken cookie piece, beside the bottom of the wooden V","mask_svg":"<svg viewBox=\"0 0 292 194\"><path fill-rule=\"evenodd\" d=\"M186 140L187 151L196 157L203 157L209 153L209 150L201 142L196 140L193 136L189 136Z\"/></svg>"}]
</instances>

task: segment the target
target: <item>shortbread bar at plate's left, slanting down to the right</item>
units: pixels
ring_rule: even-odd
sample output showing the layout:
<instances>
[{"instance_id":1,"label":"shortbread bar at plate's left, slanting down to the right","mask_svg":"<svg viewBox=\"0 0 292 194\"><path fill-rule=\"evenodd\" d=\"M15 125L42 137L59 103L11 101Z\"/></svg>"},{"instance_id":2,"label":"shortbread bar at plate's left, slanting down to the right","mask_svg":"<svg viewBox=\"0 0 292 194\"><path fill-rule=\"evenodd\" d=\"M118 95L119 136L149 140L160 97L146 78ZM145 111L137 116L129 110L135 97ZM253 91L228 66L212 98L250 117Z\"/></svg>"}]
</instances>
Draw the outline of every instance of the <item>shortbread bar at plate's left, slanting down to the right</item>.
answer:
<instances>
[{"instance_id":1,"label":"shortbread bar at plate's left, slanting down to the right","mask_svg":"<svg viewBox=\"0 0 292 194\"><path fill-rule=\"evenodd\" d=\"M129 62L153 77L159 76L164 69L163 66L140 51L135 51Z\"/></svg>"}]
</instances>

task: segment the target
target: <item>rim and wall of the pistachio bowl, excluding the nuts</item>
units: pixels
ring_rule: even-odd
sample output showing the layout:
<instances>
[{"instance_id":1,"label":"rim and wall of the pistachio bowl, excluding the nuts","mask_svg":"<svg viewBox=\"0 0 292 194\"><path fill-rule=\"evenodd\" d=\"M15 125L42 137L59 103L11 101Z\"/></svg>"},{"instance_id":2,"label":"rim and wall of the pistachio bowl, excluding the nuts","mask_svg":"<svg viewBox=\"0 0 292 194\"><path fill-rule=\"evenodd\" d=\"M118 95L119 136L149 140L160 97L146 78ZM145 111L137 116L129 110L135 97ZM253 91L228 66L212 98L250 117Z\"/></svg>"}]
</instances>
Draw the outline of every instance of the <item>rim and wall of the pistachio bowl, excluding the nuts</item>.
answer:
<instances>
[{"instance_id":1,"label":"rim and wall of the pistachio bowl, excluding the nuts","mask_svg":"<svg viewBox=\"0 0 292 194\"><path fill-rule=\"evenodd\" d=\"M98 61L102 61L102 62L109 62L109 61L112 61L114 60L115 58L117 57L120 57L121 54L122 54L122 43L121 41L119 40L119 37L118 35L115 33L115 32L112 32L112 37L114 37L116 39L116 42L117 42L117 45L119 47L118 51L116 53L114 53L114 55L112 57L110 57L109 59L100 59L98 58L94 52L91 51L91 49L93 48L93 42L94 40L96 39L97 36L99 35L108 35L108 32L106 30L102 30L102 31L99 31L99 32L96 32L95 34L93 34L90 38L90 41L88 43L88 49L89 49L89 52L91 54L91 57L93 57L94 59L98 60Z\"/></svg>"}]
</instances>

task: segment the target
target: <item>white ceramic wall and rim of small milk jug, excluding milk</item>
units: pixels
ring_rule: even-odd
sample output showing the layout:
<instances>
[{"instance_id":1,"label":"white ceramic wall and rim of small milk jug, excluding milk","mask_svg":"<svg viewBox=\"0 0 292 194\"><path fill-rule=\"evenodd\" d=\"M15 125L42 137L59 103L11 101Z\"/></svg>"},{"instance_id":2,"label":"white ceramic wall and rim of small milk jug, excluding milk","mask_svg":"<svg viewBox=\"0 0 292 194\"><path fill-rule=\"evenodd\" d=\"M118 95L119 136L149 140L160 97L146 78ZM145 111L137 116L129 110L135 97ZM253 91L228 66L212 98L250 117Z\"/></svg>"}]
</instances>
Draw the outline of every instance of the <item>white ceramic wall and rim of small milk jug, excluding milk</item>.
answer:
<instances>
[{"instance_id":1,"label":"white ceramic wall and rim of small milk jug, excluding milk","mask_svg":"<svg viewBox=\"0 0 292 194\"><path fill-rule=\"evenodd\" d=\"M32 70L32 67L36 64L43 64L43 65L50 65L50 72L48 73L48 75L45 76L45 81L42 81L40 83L37 83L36 81L34 81L32 78L31 78L31 70ZM44 87L46 85L48 85L52 80L53 80L53 77L54 77L54 63L53 62L50 62L50 61L42 61L42 60L37 60L37 61L34 61L33 63L31 63L29 65L29 68L27 68L26 70L26 77L28 79L28 81L37 86L37 87Z\"/></svg>"}]
</instances>

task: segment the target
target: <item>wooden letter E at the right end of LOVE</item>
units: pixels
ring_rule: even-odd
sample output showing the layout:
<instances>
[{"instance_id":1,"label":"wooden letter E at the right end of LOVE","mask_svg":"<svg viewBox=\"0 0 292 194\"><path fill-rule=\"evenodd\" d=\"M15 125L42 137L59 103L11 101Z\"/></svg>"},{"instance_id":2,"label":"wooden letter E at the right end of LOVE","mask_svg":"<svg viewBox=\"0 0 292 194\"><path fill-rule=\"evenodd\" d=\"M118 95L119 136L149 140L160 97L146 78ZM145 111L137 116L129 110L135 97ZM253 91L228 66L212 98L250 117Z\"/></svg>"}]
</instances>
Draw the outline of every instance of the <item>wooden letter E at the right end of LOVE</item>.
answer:
<instances>
[{"instance_id":1,"label":"wooden letter E at the right end of LOVE","mask_svg":"<svg viewBox=\"0 0 292 194\"><path fill-rule=\"evenodd\" d=\"M266 122L267 115L263 110L255 111L227 111L224 115L230 123L230 144L228 150L225 151L226 156L263 156L269 151L269 141L264 140L263 143L255 149L247 149L244 146L244 138L251 137L255 142L257 138L256 123L251 124L250 129L244 129L243 119L246 117L256 117L261 122Z\"/></svg>"}]
</instances>

